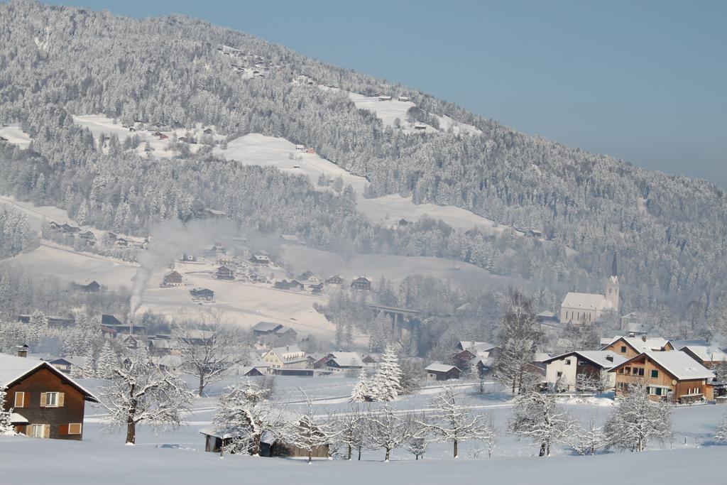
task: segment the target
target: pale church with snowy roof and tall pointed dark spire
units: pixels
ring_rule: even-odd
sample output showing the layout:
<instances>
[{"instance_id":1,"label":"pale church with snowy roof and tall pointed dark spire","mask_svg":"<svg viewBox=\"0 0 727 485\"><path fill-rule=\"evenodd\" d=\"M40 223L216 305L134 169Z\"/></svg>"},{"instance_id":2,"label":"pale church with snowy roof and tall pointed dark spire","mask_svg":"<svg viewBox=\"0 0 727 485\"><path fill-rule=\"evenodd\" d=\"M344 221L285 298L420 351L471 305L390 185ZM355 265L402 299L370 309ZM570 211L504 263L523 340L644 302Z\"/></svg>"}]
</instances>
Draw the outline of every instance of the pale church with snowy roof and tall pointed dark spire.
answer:
<instances>
[{"instance_id":1,"label":"pale church with snowy roof and tall pointed dark spire","mask_svg":"<svg viewBox=\"0 0 727 485\"><path fill-rule=\"evenodd\" d=\"M587 324L601 318L603 313L619 311L619 276L616 254L611 265L611 276L606 280L604 294L569 292L561 303L561 324Z\"/></svg>"}]
</instances>

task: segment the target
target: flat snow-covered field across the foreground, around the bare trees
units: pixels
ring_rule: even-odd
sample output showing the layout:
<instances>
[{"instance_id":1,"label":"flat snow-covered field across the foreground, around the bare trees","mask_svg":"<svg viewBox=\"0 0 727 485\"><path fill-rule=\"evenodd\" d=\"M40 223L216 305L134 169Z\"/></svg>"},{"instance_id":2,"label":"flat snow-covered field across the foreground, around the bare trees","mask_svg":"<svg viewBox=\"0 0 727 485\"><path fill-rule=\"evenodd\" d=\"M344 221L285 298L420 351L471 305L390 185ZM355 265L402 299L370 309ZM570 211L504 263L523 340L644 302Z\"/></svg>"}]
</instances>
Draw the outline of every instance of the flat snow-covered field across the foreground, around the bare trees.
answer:
<instances>
[{"instance_id":1,"label":"flat snow-covered field across the foreground, around the bare trees","mask_svg":"<svg viewBox=\"0 0 727 485\"><path fill-rule=\"evenodd\" d=\"M211 388L218 393L228 380ZM84 381L89 388L97 382ZM190 381L191 382L191 381ZM345 412L345 399L330 404L337 396L350 392L352 380L330 377L278 377L276 393L279 405L295 412L300 407L300 386L313 396L320 414ZM466 388L463 388L466 389ZM395 407L427 409L429 398L438 392L427 388L417 396L404 396ZM553 484L568 485L584 482L611 485L643 484L655 479L662 484L681 485L685 482L718 484L724 478L723 461L727 447L712 444L710 438L722 419L723 406L694 406L676 408L673 412L675 434L666 449L651 449L643 453L613 452L595 457L574 456L556 447L554 456L537 457L537 445L518 441L507 435L504 428L510 417L510 403L498 393L478 395L474 388L467 403L476 409L489 410L499 428L499 441L491 458L486 452L475 454L481 445L467 441L460 444L460 457L451 458L451 444L432 444L423 460L415 461L411 454L395 449L392 461L382 462L380 449L367 450L359 462L353 460L316 460L308 465L303 460L226 455L204 452L204 438L198 433L209 427L214 414L215 398L196 398L188 425L179 430L155 434L148 428L137 432L137 445L124 446L120 432L102 433L103 409L89 406L84 422L84 441L56 441L38 438L0 437L0 465L4 465L3 480L7 483L55 482L60 484L199 484L268 483L281 477L297 484L350 485L380 484L442 484L457 481L462 484ZM611 410L610 406L562 404L574 417L586 420L591 409L598 420ZM375 404L374 404L375 406ZM670 449L672 448L672 449ZM38 466L42 457L43 466Z\"/></svg>"}]
</instances>

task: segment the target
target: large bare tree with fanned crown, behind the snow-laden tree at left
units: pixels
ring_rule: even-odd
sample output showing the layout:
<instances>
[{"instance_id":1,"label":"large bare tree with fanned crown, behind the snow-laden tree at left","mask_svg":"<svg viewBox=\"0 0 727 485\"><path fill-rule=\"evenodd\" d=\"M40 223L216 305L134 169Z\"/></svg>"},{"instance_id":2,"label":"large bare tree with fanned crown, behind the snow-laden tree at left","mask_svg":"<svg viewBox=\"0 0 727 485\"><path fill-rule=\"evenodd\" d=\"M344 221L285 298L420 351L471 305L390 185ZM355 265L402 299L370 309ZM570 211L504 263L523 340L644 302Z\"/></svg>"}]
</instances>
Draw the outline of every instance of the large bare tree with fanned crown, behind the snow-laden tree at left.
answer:
<instances>
[{"instance_id":1,"label":"large bare tree with fanned crown, behind the snow-laden tree at left","mask_svg":"<svg viewBox=\"0 0 727 485\"><path fill-rule=\"evenodd\" d=\"M233 366L247 358L241 352L239 336L221 324L201 330L185 322L177 326L174 333L185 371L198 378L200 397L207 385L224 379Z\"/></svg>"}]
</instances>

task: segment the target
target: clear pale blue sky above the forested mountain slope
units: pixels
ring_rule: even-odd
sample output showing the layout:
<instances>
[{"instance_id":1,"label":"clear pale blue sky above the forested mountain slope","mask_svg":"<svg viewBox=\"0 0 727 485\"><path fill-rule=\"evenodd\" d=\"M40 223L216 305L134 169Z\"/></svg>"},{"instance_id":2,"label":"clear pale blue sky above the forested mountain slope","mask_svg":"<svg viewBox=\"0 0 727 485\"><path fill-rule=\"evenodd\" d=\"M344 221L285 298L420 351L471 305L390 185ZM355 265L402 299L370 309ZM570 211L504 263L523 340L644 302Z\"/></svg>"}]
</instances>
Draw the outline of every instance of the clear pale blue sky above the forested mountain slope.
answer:
<instances>
[{"instance_id":1,"label":"clear pale blue sky above the forested mountain slope","mask_svg":"<svg viewBox=\"0 0 727 485\"><path fill-rule=\"evenodd\" d=\"M727 188L727 1L63 0L209 20Z\"/></svg>"}]
</instances>

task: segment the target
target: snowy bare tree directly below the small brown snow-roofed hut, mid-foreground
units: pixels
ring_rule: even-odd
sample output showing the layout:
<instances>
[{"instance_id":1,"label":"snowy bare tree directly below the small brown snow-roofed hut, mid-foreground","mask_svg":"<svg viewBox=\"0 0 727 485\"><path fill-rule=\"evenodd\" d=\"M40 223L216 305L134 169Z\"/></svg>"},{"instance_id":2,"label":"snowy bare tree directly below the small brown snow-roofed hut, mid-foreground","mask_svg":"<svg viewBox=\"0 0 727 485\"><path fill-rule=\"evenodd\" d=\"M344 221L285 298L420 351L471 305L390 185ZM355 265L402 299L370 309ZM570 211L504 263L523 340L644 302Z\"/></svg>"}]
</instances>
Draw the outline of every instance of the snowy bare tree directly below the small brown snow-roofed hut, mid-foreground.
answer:
<instances>
[{"instance_id":1,"label":"snowy bare tree directly below the small brown snow-roofed hut, mid-foreground","mask_svg":"<svg viewBox=\"0 0 727 485\"><path fill-rule=\"evenodd\" d=\"M439 441L452 443L455 458L459 456L457 446L460 441L487 441L495 434L489 425L489 416L473 414L470 409L462 405L460 396L461 391L446 385L442 393L433 398L435 411L430 414L428 423Z\"/></svg>"}]
</instances>

